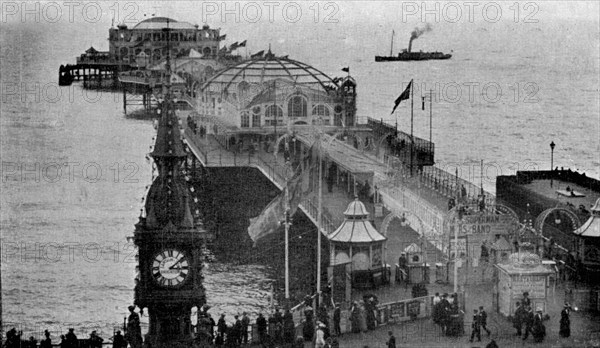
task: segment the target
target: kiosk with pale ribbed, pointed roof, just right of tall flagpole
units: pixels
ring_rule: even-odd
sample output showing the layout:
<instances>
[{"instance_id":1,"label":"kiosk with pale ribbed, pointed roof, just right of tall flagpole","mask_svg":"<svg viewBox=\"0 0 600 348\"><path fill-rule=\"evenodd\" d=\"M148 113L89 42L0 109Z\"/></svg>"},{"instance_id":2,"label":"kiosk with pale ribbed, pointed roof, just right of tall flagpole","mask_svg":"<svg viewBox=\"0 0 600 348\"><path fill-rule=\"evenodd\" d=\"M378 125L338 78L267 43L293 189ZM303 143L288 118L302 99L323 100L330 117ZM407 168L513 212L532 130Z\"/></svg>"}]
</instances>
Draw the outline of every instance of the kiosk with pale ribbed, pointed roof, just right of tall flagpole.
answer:
<instances>
[{"instance_id":1,"label":"kiosk with pale ribbed, pointed roof, just right of tall flagpole","mask_svg":"<svg viewBox=\"0 0 600 348\"><path fill-rule=\"evenodd\" d=\"M344 211L344 222L327 238L330 265L351 264L353 287L376 287L389 281L385 264L387 238L368 220L365 205L356 198Z\"/></svg>"}]
</instances>

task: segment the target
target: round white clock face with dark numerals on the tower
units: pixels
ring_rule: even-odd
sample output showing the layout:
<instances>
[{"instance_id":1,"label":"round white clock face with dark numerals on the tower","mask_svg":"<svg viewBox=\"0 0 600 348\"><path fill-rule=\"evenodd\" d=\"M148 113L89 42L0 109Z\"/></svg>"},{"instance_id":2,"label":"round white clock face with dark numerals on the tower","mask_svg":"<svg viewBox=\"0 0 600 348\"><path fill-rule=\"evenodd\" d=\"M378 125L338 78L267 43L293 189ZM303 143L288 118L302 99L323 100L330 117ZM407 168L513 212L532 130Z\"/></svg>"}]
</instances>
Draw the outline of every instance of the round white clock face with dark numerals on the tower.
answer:
<instances>
[{"instance_id":1,"label":"round white clock face with dark numerals on the tower","mask_svg":"<svg viewBox=\"0 0 600 348\"><path fill-rule=\"evenodd\" d=\"M184 253L175 249L159 252L152 261L152 277L161 286L181 285L190 272L190 264Z\"/></svg>"}]
</instances>

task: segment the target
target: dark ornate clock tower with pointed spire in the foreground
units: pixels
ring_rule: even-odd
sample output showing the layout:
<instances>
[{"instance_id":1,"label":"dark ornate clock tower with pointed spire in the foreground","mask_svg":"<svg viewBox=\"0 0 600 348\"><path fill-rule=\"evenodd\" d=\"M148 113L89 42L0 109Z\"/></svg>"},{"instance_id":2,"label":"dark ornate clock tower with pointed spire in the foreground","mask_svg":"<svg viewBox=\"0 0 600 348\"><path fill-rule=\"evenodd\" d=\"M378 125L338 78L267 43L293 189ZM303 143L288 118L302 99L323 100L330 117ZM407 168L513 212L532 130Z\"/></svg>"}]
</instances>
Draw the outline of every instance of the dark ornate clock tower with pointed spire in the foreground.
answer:
<instances>
[{"instance_id":1,"label":"dark ornate clock tower with pointed spire in the foreground","mask_svg":"<svg viewBox=\"0 0 600 348\"><path fill-rule=\"evenodd\" d=\"M150 154L158 176L134 232L139 252L134 303L149 315L145 346L152 348L191 346L191 309L206 303L201 249L210 235L191 213L183 173L187 153L168 84Z\"/></svg>"}]
</instances>

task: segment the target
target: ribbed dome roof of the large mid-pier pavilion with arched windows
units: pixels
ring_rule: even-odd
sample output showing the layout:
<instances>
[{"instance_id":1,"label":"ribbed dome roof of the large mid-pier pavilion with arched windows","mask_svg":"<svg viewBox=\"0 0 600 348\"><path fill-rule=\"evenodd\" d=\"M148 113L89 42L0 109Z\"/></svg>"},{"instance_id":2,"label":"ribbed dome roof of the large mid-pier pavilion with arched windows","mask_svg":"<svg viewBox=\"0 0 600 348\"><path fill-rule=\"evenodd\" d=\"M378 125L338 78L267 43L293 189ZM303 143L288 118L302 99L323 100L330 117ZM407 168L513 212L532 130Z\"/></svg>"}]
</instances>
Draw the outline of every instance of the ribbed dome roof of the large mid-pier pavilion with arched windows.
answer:
<instances>
[{"instance_id":1,"label":"ribbed dome roof of the large mid-pier pavilion with arched windows","mask_svg":"<svg viewBox=\"0 0 600 348\"><path fill-rule=\"evenodd\" d=\"M242 81L262 84L274 79L287 79L297 85L326 91L339 87L337 80L315 67L287 56L277 57L269 51L262 57L251 58L217 72L204 84L202 90L210 87L210 90L226 91Z\"/></svg>"}]
</instances>

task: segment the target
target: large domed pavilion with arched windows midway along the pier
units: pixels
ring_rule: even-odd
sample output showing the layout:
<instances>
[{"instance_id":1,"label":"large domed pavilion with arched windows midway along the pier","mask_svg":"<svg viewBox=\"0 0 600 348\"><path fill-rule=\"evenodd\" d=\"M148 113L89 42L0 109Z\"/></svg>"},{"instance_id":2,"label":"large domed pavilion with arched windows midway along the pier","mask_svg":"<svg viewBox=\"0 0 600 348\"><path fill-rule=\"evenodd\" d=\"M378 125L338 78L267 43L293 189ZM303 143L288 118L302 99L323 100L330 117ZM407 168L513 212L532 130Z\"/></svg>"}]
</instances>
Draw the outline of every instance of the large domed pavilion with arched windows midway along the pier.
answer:
<instances>
[{"instance_id":1,"label":"large domed pavilion with arched windows midway along the pier","mask_svg":"<svg viewBox=\"0 0 600 348\"><path fill-rule=\"evenodd\" d=\"M354 104L347 101L354 98L354 89L339 81L269 51L216 72L197 91L198 113L236 134L273 134L286 126L354 125Z\"/></svg>"}]
</instances>

